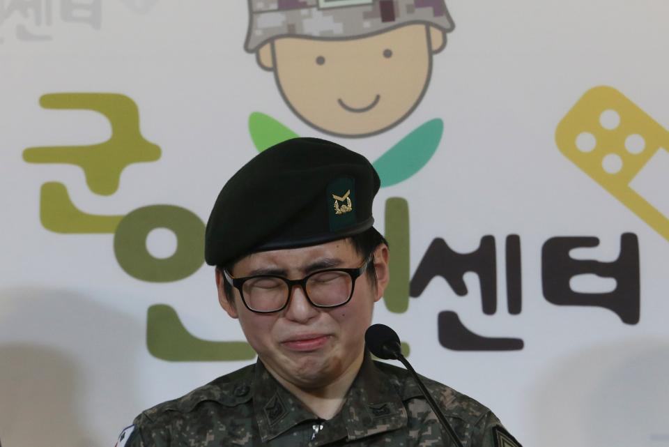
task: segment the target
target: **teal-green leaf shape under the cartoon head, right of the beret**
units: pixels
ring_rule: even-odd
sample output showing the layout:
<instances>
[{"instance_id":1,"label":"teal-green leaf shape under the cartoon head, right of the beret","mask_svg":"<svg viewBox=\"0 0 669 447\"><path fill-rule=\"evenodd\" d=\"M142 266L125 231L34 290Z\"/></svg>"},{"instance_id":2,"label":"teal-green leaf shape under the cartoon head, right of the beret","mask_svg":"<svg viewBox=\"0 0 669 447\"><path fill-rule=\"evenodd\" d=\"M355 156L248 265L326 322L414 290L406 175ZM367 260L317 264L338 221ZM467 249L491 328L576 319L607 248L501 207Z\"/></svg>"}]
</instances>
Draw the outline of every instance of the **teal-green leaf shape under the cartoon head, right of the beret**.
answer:
<instances>
[{"instance_id":1,"label":"teal-green leaf shape under the cartoon head, right of the beret","mask_svg":"<svg viewBox=\"0 0 669 447\"><path fill-rule=\"evenodd\" d=\"M380 156L374 167L381 179L381 188L396 185L420 171L436 152L443 132L443 121L432 119Z\"/></svg>"}]
</instances>

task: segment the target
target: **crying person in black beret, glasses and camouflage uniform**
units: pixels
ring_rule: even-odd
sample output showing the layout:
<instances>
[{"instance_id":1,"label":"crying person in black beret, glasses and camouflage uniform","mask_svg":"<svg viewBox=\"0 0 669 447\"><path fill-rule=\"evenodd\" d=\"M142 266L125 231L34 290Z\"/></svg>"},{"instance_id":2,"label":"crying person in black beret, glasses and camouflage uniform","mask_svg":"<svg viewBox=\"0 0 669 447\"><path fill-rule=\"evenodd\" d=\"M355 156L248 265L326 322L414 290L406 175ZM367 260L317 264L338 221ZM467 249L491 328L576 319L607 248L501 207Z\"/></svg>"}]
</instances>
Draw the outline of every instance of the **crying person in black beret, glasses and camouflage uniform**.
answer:
<instances>
[{"instance_id":1,"label":"crying person in black beret, glasses and camouflage uniform","mask_svg":"<svg viewBox=\"0 0 669 447\"><path fill-rule=\"evenodd\" d=\"M118 446L454 445L406 370L364 349L389 280L378 188L367 159L321 139L242 167L211 212L205 257L258 361L144 411ZM489 409L426 384L464 446L519 446Z\"/></svg>"}]
</instances>

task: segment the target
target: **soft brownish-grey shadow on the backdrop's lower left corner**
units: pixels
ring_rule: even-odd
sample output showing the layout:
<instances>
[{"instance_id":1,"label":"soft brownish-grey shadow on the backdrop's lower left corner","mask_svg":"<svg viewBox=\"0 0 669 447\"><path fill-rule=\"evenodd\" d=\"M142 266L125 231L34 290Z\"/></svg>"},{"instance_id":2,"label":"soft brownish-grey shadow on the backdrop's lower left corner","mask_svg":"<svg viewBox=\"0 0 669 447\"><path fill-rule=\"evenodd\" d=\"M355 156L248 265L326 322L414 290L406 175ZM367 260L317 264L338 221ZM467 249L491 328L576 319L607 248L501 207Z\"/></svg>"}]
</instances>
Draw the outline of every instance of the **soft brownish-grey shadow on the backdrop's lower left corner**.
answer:
<instances>
[{"instance_id":1,"label":"soft brownish-grey shadow on the backdrop's lower left corner","mask_svg":"<svg viewBox=\"0 0 669 447\"><path fill-rule=\"evenodd\" d=\"M136 321L78 291L0 290L3 446L113 445L140 406L132 384L143 351Z\"/></svg>"}]
</instances>

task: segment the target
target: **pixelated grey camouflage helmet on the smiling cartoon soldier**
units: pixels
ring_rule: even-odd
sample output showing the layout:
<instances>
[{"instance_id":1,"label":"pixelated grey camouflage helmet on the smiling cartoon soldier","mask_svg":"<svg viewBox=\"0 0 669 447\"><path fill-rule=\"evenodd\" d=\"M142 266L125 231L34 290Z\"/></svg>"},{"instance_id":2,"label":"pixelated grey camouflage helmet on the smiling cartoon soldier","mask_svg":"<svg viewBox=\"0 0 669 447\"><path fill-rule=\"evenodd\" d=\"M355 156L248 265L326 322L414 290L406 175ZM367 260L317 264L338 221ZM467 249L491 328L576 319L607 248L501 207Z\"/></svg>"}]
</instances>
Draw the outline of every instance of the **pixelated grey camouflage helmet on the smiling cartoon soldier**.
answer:
<instances>
[{"instance_id":1,"label":"pixelated grey camouflage helmet on the smiling cartoon soldier","mask_svg":"<svg viewBox=\"0 0 669 447\"><path fill-rule=\"evenodd\" d=\"M352 38L410 23L454 29L444 0L248 0L245 49L282 36Z\"/></svg>"}]
</instances>

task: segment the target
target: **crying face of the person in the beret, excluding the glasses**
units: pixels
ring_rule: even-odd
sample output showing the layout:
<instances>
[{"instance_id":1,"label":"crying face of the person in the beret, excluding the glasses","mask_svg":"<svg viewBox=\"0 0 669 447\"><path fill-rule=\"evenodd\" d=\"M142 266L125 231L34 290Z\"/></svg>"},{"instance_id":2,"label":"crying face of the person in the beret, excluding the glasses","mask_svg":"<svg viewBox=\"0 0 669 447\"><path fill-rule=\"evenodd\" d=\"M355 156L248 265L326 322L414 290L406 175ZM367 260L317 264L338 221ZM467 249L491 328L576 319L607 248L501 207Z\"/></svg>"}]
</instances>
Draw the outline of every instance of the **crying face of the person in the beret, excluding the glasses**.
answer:
<instances>
[{"instance_id":1,"label":"crying face of the person in the beret, excluding the glasses","mask_svg":"<svg viewBox=\"0 0 669 447\"><path fill-rule=\"evenodd\" d=\"M271 272L289 279L304 278L315 270L355 268L364 260L348 239L312 247L274 250L249 255L234 268L236 277ZM378 276L376 289L367 273L355 281L353 297L332 309L314 308L300 287L293 287L287 308L272 314L248 310L239 291L233 289L234 304L224 296L222 275L217 271L219 301L228 314L240 321L244 335L268 370L303 389L333 383L352 368L364 349L364 332L371 324L374 303L383 296L388 279L388 251L380 245L372 260Z\"/></svg>"}]
</instances>

